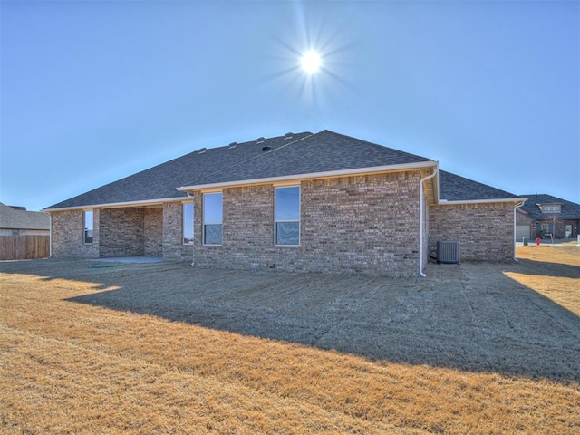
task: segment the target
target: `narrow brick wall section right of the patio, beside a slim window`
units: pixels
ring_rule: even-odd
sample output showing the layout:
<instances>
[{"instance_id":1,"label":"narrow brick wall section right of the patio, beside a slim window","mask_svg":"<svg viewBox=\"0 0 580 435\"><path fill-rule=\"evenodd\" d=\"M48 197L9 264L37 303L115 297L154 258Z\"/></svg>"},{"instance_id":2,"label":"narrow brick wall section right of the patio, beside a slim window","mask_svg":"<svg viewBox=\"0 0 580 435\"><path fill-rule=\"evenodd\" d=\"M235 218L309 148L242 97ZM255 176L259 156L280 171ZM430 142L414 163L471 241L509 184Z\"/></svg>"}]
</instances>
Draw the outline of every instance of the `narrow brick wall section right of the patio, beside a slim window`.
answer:
<instances>
[{"instance_id":1,"label":"narrow brick wall section right of the patio, beside a slim window","mask_svg":"<svg viewBox=\"0 0 580 435\"><path fill-rule=\"evenodd\" d=\"M197 213L197 210L194 209ZM183 244L183 204L163 204L163 258L193 261L193 245ZM194 235L194 237L196 237Z\"/></svg>"}]
</instances>

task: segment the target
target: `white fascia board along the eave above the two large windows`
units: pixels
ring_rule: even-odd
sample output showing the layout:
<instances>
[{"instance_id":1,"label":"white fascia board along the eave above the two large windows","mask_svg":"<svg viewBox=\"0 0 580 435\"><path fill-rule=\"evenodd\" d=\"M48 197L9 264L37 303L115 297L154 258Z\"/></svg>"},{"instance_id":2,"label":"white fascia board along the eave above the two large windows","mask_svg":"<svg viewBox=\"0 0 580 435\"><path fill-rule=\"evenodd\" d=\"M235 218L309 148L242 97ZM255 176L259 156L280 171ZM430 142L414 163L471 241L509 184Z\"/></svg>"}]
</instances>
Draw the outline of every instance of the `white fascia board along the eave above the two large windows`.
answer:
<instances>
[{"instance_id":1,"label":"white fascia board along the eave above the two large windows","mask_svg":"<svg viewBox=\"0 0 580 435\"><path fill-rule=\"evenodd\" d=\"M377 172L396 172L401 170L409 169L421 169L421 168L437 168L437 161L427 160L420 161L418 163L404 163L401 165L388 165L388 166L373 166L371 168L355 168L355 169L341 169L341 170L329 170L326 172L312 172L308 174L295 174L295 175L284 175L281 177L270 177L266 179L241 179L238 181L226 181L223 183L210 183L210 184L198 184L192 186L182 186L177 188L180 192L191 191L191 190L202 190L202 189L217 189L217 188L229 188L236 186L246 186L248 184L270 184L282 181L298 181L301 179L326 179L332 177L348 177L354 175L365 175Z\"/></svg>"}]
</instances>

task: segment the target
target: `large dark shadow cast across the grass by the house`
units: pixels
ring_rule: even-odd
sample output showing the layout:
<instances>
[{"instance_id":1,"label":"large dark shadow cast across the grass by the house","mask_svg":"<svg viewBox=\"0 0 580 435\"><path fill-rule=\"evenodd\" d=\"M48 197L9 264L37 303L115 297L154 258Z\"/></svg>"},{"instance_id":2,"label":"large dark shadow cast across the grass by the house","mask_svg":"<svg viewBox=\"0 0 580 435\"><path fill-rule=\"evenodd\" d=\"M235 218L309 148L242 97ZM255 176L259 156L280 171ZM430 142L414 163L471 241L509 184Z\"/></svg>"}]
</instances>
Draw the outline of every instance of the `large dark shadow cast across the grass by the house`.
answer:
<instances>
[{"instance_id":1,"label":"large dark shadow cast across the grass by the house","mask_svg":"<svg viewBox=\"0 0 580 435\"><path fill-rule=\"evenodd\" d=\"M67 299L73 303L373 360L580 382L580 318L504 274L575 278L576 266L530 260L430 265L427 278L406 279L179 263L90 266L49 260L18 273L105 290Z\"/></svg>"}]
</instances>

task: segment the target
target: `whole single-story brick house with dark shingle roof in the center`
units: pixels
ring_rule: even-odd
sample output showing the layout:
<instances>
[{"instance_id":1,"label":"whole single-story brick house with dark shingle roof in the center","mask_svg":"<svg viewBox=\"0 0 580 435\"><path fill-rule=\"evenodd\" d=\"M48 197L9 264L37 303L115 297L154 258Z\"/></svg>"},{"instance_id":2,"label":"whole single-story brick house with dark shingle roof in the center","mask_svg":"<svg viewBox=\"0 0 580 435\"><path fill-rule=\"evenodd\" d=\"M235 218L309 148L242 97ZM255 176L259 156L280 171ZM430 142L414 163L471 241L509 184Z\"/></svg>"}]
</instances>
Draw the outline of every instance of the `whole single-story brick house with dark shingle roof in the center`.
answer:
<instances>
[{"instance_id":1,"label":"whole single-story brick house with dark shingle roof in the center","mask_svg":"<svg viewBox=\"0 0 580 435\"><path fill-rule=\"evenodd\" d=\"M320 131L202 148L46 211L53 256L416 276L439 240L461 260L511 260L524 200Z\"/></svg>"}]
</instances>

